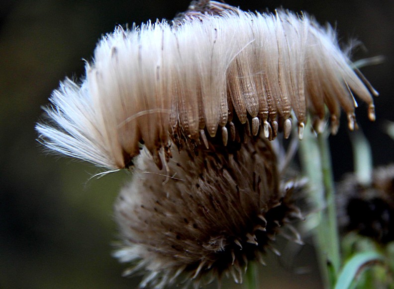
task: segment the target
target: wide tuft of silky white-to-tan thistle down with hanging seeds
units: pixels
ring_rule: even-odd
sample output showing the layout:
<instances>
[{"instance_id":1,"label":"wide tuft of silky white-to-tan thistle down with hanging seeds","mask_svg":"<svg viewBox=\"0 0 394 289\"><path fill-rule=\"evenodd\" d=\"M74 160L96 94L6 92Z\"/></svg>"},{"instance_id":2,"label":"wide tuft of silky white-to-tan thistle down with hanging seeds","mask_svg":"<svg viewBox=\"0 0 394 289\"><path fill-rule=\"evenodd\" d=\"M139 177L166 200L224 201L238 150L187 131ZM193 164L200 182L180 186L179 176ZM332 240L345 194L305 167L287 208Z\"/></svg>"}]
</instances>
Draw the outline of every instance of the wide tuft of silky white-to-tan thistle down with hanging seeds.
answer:
<instances>
[{"instance_id":1,"label":"wide tuft of silky white-to-tan thistle down with hanging seeds","mask_svg":"<svg viewBox=\"0 0 394 289\"><path fill-rule=\"evenodd\" d=\"M66 79L53 92L49 120L36 127L42 142L109 169L132 165L144 144L161 167L170 141L208 147L218 137L227 145L259 130L287 138L292 112L299 138L308 114L321 130L326 108L333 133L341 109L353 130L353 93L375 119L377 92L352 69L332 28L283 10L215 14L103 37L82 83Z\"/></svg>"}]
</instances>

